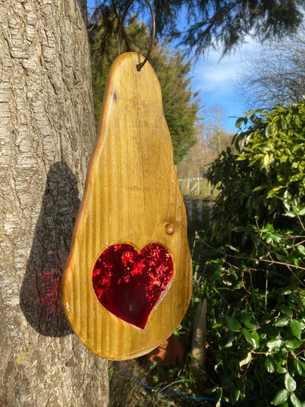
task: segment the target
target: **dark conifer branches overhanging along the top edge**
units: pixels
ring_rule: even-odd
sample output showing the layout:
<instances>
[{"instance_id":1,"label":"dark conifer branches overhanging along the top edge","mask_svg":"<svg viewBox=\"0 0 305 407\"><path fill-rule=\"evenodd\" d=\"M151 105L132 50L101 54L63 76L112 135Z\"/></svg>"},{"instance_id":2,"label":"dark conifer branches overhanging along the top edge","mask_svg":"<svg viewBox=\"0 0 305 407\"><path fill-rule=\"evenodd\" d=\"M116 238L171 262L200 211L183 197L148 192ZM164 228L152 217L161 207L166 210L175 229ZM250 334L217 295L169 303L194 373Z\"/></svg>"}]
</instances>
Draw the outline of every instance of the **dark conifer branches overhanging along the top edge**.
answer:
<instances>
[{"instance_id":1,"label":"dark conifer branches overhanging along the top edge","mask_svg":"<svg viewBox=\"0 0 305 407\"><path fill-rule=\"evenodd\" d=\"M197 55L210 47L221 47L225 54L240 45L246 35L260 41L285 37L294 32L303 17L303 0L155 0L152 3L157 34L179 38L181 44L195 50ZM113 18L119 19L125 6L125 0L97 1L93 19L102 15L109 32ZM133 10L142 11L144 7L144 2L138 2ZM183 28L177 23L181 10L187 23Z\"/></svg>"}]
</instances>

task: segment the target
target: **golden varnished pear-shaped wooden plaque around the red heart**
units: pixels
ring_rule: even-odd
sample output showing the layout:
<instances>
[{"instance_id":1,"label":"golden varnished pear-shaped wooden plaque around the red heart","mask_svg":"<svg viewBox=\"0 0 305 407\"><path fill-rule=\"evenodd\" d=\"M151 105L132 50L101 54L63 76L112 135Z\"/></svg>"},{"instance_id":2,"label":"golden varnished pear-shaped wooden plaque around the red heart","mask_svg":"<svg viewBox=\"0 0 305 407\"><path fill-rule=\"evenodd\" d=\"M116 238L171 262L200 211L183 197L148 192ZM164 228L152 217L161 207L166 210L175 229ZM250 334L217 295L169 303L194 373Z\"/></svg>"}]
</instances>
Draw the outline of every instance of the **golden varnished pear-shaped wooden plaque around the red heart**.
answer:
<instances>
[{"instance_id":1,"label":"golden varnished pear-shaped wooden plaque around the red heart","mask_svg":"<svg viewBox=\"0 0 305 407\"><path fill-rule=\"evenodd\" d=\"M95 354L112 360L144 355L176 329L192 291L187 218L154 70L143 56L124 53L111 66L97 141L66 263L62 301L70 324ZM183 112L181 112L183 114ZM167 224L174 232L167 234ZM172 284L145 330L107 311L95 295L95 261L110 245L149 243L172 255Z\"/></svg>"}]
</instances>

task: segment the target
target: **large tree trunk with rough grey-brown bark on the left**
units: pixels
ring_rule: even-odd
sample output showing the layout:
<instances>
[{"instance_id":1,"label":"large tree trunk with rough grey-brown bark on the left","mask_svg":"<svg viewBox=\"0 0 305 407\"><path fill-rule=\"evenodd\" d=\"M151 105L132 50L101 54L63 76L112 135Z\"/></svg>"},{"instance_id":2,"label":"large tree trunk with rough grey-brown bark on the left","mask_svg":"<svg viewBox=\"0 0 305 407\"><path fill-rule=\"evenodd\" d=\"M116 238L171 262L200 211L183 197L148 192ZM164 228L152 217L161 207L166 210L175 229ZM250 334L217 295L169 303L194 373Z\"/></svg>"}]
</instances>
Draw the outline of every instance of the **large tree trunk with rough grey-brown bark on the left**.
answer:
<instances>
[{"instance_id":1,"label":"large tree trunk with rough grey-brown bark on the left","mask_svg":"<svg viewBox=\"0 0 305 407\"><path fill-rule=\"evenodd\" d=\"M60 283L95 139L85 0L0 0L1 406L106 406Z\"/></svg>"}]
</instances>

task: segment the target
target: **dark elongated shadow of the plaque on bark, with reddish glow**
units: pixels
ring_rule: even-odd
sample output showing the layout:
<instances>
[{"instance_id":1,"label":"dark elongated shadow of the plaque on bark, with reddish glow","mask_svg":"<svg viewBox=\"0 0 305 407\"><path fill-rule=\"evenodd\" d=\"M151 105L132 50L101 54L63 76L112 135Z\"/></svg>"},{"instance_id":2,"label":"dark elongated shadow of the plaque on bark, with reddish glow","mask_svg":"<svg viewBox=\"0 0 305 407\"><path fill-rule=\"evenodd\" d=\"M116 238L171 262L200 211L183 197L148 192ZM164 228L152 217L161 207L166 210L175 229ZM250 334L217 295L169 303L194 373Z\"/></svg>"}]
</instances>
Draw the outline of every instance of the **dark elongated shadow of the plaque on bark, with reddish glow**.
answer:
<instances>
[{"instance_id":1,"label":"dark elongated shadow of the plaque on bark, with reddish glow","mask_svg":"<svg viewBox=\"0 0 305 407\"><path fill-rule=\"evenodd\" d=\"M78 208L77 180L70 167L53 164L20 292L27 321L42 335L72 333L60 300L60 286Z\"/></svg>"}]
</instances>

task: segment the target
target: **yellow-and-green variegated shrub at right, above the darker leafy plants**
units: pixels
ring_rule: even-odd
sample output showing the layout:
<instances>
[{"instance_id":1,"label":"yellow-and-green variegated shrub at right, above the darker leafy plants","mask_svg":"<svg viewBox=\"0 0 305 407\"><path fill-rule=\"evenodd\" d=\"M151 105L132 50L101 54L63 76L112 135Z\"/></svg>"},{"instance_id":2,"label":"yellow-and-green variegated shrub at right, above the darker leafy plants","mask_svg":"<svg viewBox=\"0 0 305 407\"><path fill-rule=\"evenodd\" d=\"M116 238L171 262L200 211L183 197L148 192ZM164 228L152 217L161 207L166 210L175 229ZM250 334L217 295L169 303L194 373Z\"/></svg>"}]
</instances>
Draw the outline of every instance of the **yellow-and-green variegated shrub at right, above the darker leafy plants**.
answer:
<instances>
[{"instance_id":1,"label":"yellow-and-green variegated shrub at right, above the darker leafy plants","mask_svg":"<svg viewBox=\"0 0 305 407\"><path fill-rule=\"evenodd\" d=\"M304 104L251 111L238 119L240 129L247 125L234 138L239 154L227 149L208 173L211 182L221 183L213 222L217 242L247 242L252 232L245 225L254 219L260 225L300 227L292 213L305 208L304 123Z\"/></svg>"}]
</instances>

